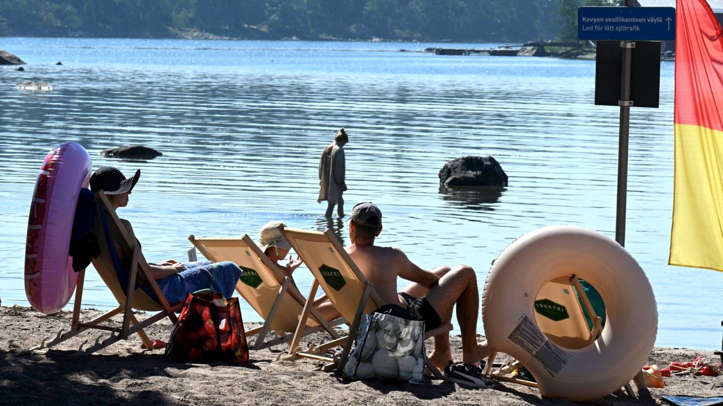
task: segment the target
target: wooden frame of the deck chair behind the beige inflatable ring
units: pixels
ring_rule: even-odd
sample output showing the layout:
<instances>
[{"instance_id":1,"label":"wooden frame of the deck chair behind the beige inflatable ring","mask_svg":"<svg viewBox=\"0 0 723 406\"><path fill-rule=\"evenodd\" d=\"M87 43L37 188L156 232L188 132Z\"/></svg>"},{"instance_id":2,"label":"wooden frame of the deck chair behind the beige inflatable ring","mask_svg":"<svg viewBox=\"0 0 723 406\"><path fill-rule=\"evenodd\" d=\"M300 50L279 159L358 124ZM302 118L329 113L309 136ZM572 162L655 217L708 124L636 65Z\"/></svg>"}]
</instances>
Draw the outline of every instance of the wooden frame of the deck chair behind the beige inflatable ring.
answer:
<instances>
[{"instance_id":1,"label":"wooden frame of the deck chair behind the beige inflatable ring","mask_svg":"<svg viewBox=\"0 0 723 406\"><path fill-rule=\"evenodd\" d=\"M595 340L596 337L600 332L602 332L602 317L598 316L595 313L595 309L592 307L592 303L590 303L590 299L588 298L587 294L585 293L585 290L583 289L582 285L580 285L580 280L578 279L577 275L570 275L570 284L573 285L575 290L577 290L578 295L580 296L581 304L581 311L584 309L587 314L589 314L590 319L592 320L592 328L590 329L590 334L587 338L587 345L591 345ZM579 303L579 302L578 302ZM526 379L519 379L516 376L508 376L509 373L512 373L515 371L515 369L520 368L522 363L518 360L513 360L511 363L508 364L502 364L498 367L494 365L495 357L497 357L497 352L493 352L489 354L489 357L487 357L487 365L484 367L483 374L489 378L497 379L497 381L504 381L504 382L510 382L513 384L521 384L525 386L531 386L531 387L539 387L536 382L533 381L527 381ZM494 370L493 368L497 368ZM632 398L636 398L635 392L633 392L633 387L630 386L630 383L625 384L625 392L628 392L628 396Z\"/></svg>"}]
</instances>

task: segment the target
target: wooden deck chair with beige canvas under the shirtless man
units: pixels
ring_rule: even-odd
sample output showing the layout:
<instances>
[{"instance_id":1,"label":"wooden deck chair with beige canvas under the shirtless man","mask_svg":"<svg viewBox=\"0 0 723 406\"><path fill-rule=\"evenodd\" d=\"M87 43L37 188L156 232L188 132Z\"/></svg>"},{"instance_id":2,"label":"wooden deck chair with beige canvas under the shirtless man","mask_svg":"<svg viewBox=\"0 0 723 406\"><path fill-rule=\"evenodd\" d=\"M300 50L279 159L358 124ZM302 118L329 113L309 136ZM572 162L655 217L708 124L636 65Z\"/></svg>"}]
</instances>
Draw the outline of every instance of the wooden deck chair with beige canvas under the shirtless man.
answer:
<instances>
[{"instance_id":1,"label":"wooden deck chair with beige canvas under the shirtless man","mask_svg":"<svg viewBox=\"0 0 723 406\"><path fill-rule=\"evenodd\" d=\"M304 313L299 320L299 326L296 327L294 340L291 342L288 355L281 357L286 360L294 360L300 357L311 358L320 361L320 369L322 371L341 370L346 364L351 345L354 343L356 331L359 329L361 314L369 314L384 303L377 291L372 287L364 274L361 273L359 267L354 264L351 256L347 254L341 243L335 238L331 230L325 232L296 230L293 228L281 229L281 233L286 237L286 241L294 247L296 254L301 256L304 264L314 275L314 283L312 289L307 296L309 299L314 298L317 289L321 285L332 305L339 311L341 316L347 320L354 320L346 337L338 338L322 345L309 347L308 350L302 351L298 347L301 339L300 332L304 321L309 316L310 306L304 306ZM446 334L452 329L452 324L443 324L437 329L424 333L424 338L434 337L438 334ZM342 346L343 350L341 358L334 359L323 355L325 351L333 347ZM434 376L444 379L442 373L437 367L424 356L424 363Z\"/></svg>"}]
</instances>

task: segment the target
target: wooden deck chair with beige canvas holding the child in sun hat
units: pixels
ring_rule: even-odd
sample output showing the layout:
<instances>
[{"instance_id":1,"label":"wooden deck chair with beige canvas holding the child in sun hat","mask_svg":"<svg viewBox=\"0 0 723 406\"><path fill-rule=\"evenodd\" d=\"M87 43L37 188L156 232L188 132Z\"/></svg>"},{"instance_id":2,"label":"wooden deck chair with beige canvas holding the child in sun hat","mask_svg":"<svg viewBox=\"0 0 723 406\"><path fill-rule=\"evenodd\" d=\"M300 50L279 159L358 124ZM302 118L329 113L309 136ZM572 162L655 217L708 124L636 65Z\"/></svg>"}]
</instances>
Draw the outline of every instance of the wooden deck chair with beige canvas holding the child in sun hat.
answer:
<instances>
[{"instance_id":1,"label":"wooden deck chair with beige canvas holding the child in sun hat","mask_svg":"<svg viewBox=\"0 0 723 406\"><path fill-rule=\"evenodd\" d=\"M242 238L196 238L191 235L188 239L209 261L231 261L244 271L236 283L236 292L264 319L261 327L246 332L246 337L257 336L252 350L283 344L294 338L307 301L291 278L281 274L248 235ZM328 322L314 309L310 314L301 335L326 331L333 338L339 337L333 327L346 322L345 319ZM266 334L271 330L277 337L266 341Z\"/></svg>"}]
</instances>

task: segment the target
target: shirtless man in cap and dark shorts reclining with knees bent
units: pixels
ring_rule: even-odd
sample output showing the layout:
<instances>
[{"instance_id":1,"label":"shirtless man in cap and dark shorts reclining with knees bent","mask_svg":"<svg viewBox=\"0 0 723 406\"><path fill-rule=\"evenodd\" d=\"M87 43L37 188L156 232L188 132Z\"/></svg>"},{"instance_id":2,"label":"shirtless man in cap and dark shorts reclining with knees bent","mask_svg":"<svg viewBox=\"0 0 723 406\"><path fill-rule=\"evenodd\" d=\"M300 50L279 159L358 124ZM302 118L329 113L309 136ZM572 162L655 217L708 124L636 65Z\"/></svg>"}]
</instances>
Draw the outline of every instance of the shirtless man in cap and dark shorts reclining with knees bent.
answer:
<instances>
[{"instance_id":1,"label":"shirtless man in cap and dark shorts reclining with knees bent","mask_svg":"<svg viewBox=\"0 0 723 406\"><path fill-rule=\"evenodd\" d=\"M375 246L382 232L382 212L370 202L359 203L351 211L346 251L361 272L372 282L385 304L406 308L408 319L425 321L432 330L452 319L457 305L457 322L462 332L462 362L474 364L489 355L487 346L477 343L479 293L474 270L467 265L424 270L411 262L401 249ZM397 290L397 277L412 283ZM438 368L452 360L449 334L435 337L435 350L429 356Z\"/></svg>"}]
</instances>

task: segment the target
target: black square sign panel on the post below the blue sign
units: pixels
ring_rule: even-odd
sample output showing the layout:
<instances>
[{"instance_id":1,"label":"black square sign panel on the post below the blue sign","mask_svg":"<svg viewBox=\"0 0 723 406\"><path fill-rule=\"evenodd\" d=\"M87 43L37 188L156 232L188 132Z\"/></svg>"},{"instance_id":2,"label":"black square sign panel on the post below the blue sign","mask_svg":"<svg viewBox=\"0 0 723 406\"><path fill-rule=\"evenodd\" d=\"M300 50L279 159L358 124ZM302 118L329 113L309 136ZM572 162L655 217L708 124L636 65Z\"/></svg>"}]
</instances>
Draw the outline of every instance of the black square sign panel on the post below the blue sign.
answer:
<instances>
[{"instance_id":1,"label":"black square sign panel on the post below the blue sign","mask_svg":"<svg viewBox=\"0 0 723 406\"><path fill-rule=\"evenodd\" d=\"M620 41L597 41L595 61L595 104L619 105L623 77ZM657 108L660 93L660 42L635 41L630 72L633 107Z\"/></svg>"}]
</instances>

